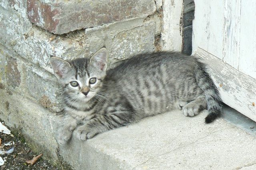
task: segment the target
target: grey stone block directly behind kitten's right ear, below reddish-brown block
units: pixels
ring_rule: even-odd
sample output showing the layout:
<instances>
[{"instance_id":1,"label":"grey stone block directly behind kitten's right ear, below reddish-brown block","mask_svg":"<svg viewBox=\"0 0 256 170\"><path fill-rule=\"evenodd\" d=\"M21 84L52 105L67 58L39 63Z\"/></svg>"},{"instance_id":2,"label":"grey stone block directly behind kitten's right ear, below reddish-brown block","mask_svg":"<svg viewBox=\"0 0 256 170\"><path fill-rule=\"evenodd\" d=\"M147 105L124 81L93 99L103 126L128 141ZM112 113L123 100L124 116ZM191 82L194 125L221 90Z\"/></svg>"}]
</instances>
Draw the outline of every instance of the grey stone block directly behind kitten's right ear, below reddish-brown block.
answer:
<instances>
[{"instance_id":1,"label":"grey stone block directly behind kitten's right ear, below reddish-brown block","mask_svg":"<svg viewBox=\"0 0 256 170\"><path fill-rule=\"evenodd\" d=\"M144 22L145 19L122 21L86 29L88 49L95 49L90 53L93 54L102 46L106 46L109 50L109 62L114 63L142 52L153 52L158 25L153 19Z\"/></svg>"}]
</instances>

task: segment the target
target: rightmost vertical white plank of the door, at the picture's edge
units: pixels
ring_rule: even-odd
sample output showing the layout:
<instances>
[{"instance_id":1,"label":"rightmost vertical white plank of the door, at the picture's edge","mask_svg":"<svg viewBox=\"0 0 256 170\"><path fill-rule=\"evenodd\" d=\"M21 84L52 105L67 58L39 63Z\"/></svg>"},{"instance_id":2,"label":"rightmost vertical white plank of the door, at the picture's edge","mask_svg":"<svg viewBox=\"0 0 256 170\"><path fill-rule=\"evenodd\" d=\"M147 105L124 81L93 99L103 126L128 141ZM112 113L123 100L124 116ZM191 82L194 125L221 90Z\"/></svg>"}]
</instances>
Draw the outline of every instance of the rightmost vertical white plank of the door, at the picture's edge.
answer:
<instances>
[{"instance_id":1,"label":"rightmost vertical white plank of the door, at the picture's edge","mask_svg":"<svg viewBox=\"0 0 256 170\"><path fill-rule=\"evenodd\" d=\"M239 70L256 79L256 0L242 0Z\"/></svg>"}]
</instances>

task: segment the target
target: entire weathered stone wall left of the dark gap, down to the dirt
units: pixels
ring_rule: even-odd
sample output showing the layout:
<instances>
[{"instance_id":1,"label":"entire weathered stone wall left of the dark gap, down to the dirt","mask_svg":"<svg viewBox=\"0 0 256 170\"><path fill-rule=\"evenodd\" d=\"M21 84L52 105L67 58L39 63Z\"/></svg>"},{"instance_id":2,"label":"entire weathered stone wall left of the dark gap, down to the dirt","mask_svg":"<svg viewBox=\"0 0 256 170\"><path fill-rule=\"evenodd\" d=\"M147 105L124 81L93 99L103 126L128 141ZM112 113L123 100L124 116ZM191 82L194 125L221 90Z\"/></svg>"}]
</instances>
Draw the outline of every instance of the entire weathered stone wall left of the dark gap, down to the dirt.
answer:
<instances>
[{"instance_id":1,"label":"entire weathered stone wall left of the dark gap, down to the dirt","mask_svg":"<svg viewBox=\"0 0 256 170\"><path fill-rule=\"evenodd\" d=\"M182 2L0 0L0 119L58 160L52 121L62 104L50 57L90 57L105 46L114 64L138 53L181 50L182 14L168 19L175 7L181 11Z\"/></svg>"}]
</instances>

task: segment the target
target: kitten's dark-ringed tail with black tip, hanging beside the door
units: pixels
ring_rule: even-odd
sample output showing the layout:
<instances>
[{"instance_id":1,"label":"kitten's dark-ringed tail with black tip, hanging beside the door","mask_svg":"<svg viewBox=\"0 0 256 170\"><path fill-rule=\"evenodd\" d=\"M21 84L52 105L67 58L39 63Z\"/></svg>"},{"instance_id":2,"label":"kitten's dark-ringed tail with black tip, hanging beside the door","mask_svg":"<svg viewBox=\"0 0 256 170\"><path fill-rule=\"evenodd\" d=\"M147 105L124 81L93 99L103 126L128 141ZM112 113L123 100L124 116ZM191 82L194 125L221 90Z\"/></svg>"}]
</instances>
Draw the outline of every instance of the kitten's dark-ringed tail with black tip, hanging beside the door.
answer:
<instances>
[{"instance_id":1,"label":"kitten's dark-ringed tail with black tip, hanging beside the door","mask_svg":"<svg viewBox=\"0 0 256 170\"><path fill-rule=\"evenodd\" d=\"M198 86L204 91L206 97L209 114L206 116L205 122L210 123L222 113L222 100L220 98L220 93L212 81L212 78L206 72L206 68L202 62L197 62L195 76Z\"/></svg>"}]
</instances>

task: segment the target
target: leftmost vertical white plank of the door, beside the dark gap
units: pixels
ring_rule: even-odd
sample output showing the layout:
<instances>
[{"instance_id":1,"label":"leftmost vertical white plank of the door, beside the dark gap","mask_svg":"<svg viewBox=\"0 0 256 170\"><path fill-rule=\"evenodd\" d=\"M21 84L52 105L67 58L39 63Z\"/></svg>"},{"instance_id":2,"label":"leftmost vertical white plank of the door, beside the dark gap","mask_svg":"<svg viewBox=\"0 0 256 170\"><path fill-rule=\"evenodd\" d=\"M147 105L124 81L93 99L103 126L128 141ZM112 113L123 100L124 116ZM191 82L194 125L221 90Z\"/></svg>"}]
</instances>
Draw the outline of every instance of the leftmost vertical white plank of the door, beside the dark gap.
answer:
<instances>
[{"instance_id":1,"label":"leftmost vertical white plank of the door, beside the dark gap","mask_svg":"<svg viewBox=\"0 0 256 170\"><path fill-rule=\"evenodd\" d=\"M195 0L194 2L192 51L200 47L222 59L224 4L222 0Z\"/></svg>"}]
</instances>

